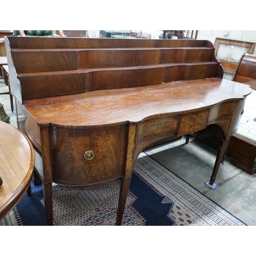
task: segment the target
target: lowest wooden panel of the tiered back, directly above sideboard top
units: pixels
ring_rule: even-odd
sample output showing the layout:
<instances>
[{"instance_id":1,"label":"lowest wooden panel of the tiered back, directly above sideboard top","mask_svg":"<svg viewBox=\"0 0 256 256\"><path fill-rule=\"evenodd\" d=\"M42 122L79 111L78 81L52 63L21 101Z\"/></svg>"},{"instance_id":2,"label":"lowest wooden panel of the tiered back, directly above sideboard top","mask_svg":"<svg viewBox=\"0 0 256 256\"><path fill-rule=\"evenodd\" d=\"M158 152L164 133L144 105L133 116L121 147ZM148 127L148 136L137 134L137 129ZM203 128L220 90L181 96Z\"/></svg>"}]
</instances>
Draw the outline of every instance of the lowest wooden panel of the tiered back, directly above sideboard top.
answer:
<instances>
[{"instance_id":1,"label":"lowest wooden panel of the tiered back, directly above sideboard top","mask_svg":"<svg viewBox=\"0 0 256 256\"><path fill-rule=\"evenodd\" d=\"M194 80L215 77L218 63L198 65L168 65L138 69L94 70L81 73L21 76L24 100L85 93L95 90L149 86L178 80ZM33 91L33 94L31 93Z\"/></svg>"}]
</instances>

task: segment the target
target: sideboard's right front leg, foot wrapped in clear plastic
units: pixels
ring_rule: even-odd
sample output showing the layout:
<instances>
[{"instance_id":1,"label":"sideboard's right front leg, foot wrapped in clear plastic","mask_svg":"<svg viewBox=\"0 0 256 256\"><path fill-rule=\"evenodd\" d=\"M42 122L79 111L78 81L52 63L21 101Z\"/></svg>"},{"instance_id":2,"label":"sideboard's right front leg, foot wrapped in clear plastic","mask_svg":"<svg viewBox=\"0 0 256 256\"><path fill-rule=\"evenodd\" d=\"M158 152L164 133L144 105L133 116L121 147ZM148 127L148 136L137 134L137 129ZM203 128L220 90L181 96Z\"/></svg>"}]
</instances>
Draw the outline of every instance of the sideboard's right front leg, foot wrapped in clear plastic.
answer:
<instances>
[{"instance_id":1,"label":"sideboard's right front leg, foot wrapped in clear plastic","mask_svg":"<svg viewBox=\"0 0 256 256\"><path fill-rule=\"evenodd\" d=\"M220 164L221 164L221 162L223 160L223 157L226 153L228 143L229 143L229 139L228 140L223 140L222 145L219 147L217 158L216 158L215 165L214 165L214 170L212 171L210 181L205 182L205 185L207 187L210 187L212 189L216 189L219 186L219 184L215 183L215 179L216 179Z\"/></svg>"}]
</instances>

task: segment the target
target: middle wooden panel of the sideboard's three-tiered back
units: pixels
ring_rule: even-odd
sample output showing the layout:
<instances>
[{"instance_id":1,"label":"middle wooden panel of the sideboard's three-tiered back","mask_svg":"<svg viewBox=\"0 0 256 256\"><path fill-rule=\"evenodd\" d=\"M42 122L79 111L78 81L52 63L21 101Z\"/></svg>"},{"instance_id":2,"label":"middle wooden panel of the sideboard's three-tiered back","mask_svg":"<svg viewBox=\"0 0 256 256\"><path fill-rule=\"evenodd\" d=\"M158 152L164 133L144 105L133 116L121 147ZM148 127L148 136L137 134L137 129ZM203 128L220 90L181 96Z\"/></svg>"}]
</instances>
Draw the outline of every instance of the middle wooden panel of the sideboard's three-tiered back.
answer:
<instances>
[{"instance_id":1,"label":"middle wooden panel of the sideboard's three-tiered back","mask_svg":"<svg viewBox=\"0 0 256 256\"><path fill-rule=\"evenodd\" d=\"M119 48L94 50L13 50L17 74L79 69L150 66L212 60L210 48Z\"/></svg>"}]
</instances>

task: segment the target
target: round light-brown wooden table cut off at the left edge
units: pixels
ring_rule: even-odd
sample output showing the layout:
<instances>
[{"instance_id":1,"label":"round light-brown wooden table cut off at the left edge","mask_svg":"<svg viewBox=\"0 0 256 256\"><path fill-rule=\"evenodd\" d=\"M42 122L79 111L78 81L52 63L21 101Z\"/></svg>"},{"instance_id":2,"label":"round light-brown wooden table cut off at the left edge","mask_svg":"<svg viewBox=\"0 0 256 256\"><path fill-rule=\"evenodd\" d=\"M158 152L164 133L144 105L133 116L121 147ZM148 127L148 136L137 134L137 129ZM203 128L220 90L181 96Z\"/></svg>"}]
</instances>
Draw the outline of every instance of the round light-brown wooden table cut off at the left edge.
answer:
<instances>
[{"instance_id":1,"label":"round light-brown wooden table cut off at the left edge","mask_svg":"<svg viewBox=\"0 0 256 256\"><path fill-rule=\"evenodd\" d=\"M15 127L0 121L0 220L24 196L30 186L35 164L29 139Z\"/></svg>"}]
</instances>

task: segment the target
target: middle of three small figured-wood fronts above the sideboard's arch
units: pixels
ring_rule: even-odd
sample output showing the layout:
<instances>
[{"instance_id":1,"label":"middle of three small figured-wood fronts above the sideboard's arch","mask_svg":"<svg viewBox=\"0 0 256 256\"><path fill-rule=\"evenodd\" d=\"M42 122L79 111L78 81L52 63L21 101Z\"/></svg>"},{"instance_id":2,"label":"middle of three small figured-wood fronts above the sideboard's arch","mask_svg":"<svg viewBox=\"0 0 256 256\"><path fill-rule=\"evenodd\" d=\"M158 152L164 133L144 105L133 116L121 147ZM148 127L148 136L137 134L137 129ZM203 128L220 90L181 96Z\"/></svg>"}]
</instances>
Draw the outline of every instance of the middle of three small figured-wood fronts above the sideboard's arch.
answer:
<instances>
[{"instance_id":1,"label":"middle of three small figured-wood fronts above the sideboard's arch","mask_svg":"<svg viewBox=\"0 0 256 256\"><path fill-rule=\"evenodd\" d=\"M182 136L205 129L207 126L208 116L208 110L181 115L177 136Z\"/></svg>"}]
</instances>

